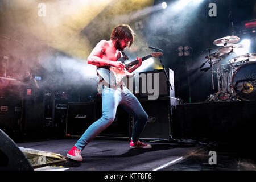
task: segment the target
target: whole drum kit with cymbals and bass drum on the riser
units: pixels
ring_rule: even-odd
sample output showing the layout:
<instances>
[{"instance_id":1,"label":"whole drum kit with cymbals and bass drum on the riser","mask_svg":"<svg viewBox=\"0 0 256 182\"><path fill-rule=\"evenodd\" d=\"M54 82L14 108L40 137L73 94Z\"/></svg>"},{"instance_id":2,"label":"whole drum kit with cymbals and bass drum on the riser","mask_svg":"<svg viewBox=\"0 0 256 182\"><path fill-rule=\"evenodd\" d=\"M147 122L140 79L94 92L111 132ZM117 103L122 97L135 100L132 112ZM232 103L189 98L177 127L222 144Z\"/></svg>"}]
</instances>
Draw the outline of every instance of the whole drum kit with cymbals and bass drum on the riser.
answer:
<instances>
[{"instance_id":1,"label":"whole drum kit with cymbals and bass drum on the riser","mask_svg":"<svg viewBox=\"0 0 256 182\"><path fill-rule=\"evenodd\" d=\"M205 63L200 66L200 71L212 72L212 87L214 89L213 73L216 73L218 92L210 95L206 101L241 101L256 99L256 53L246 53L233 57L228 61L224 59L232 53L245 48L245 44L238 43L240 38L237 36L226 36L214 40L213 44L221 46L217 52L205 56L205 63L210 67L203 68Z\"/></svg>"}]
</instances>

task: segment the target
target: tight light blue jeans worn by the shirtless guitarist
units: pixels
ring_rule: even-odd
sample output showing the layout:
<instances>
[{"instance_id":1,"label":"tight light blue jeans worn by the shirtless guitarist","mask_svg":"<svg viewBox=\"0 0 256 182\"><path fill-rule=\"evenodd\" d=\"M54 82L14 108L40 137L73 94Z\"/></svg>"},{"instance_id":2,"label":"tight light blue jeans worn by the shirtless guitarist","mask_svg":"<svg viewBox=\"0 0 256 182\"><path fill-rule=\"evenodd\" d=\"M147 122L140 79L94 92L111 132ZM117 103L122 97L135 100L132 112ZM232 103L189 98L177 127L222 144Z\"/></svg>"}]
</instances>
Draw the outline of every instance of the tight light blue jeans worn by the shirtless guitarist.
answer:
<instances>
[{"instance_id":1,"label":"tight light blue jeans worn by the shirtless guitarist","mask_svg":"<svg viewBox=\"0 0 256 182\"><path fill-rule=\"evenodd\" d=\"M148 115L142 108L138 99L126 86L121 86L121 88L117 89L105 86L102 90L102 117L92 123L77 141L75 146L79 148L79 150L83 150L92 139L111 125L114 121L118 105L121 105L123 109L135 117L136 122L131 138L134 142L139 140L139 135L142 133L147 123Z\"/></svg>"}]
</instances>

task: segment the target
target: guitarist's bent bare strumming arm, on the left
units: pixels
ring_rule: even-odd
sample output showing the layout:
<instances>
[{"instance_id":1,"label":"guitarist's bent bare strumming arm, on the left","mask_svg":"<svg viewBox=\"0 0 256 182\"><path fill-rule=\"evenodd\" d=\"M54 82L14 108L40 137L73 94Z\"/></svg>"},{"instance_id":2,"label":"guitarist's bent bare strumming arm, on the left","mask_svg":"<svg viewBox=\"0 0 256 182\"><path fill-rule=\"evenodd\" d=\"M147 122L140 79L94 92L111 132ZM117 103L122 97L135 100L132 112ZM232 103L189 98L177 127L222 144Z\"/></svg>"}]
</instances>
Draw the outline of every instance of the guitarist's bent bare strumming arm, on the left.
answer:
<instances>
[{"instance_id":1,"label":"guitarist's bent bare strumming arm, on the left","mask_svg":"<svg viewBox=\"0 0 256 182\"><path fill-rule=\"evenodd\" d=\"M98 67L110 66L110 67L116 67L116 68L123 69L124 65L121 62L110 61L110 60L105 60L105 59L101 58L106 50L106 46L108 46L108 42L106 42L106 40L101 40L96 45L96 47L94 47L94 49L88 56L87 63L96 65Z\"/></svg>"}]
</instances>

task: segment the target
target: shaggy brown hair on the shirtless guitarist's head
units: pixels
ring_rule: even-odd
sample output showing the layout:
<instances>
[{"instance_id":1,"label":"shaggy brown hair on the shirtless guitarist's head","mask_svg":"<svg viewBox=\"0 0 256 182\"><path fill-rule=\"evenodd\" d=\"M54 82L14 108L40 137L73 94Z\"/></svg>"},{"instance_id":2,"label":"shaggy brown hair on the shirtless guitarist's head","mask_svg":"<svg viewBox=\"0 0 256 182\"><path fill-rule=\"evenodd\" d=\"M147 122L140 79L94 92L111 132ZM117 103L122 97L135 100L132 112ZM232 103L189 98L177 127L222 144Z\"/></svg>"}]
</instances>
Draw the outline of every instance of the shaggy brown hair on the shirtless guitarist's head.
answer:
<instances>
[{"instance_id":1,"label":"shaggy brown hair on the shirtless guitarist's head","mask_svg":"<svg viewBox=\"0 0 256 182\"><path fill-rule=\"evenodd\" d=\"M110 40L122 40L126 38L130 42L130 47L131 44L133 44L134 31L128 24L120 24L119 26L115 27L112 31L112 34L110 35Z\"/></svg>"}]
</instances>

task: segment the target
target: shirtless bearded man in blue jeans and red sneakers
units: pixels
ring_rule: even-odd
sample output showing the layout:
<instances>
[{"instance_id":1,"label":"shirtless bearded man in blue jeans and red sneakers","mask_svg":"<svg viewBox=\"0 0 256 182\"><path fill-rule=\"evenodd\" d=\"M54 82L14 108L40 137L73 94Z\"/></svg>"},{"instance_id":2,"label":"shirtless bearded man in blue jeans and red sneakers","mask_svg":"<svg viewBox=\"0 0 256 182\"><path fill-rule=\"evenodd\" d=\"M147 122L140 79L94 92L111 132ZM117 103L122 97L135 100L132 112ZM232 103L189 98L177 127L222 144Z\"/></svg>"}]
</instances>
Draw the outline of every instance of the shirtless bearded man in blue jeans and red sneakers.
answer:
<instances>
[{"instance_id":1,"label":"shirtless bearded man in blue jeans and red sneakers","mask_svg":"<svg viewBox=\"0 0 256 182\"><path fill-rule=\"evenodd\" d=\"M117 60L124 55L122 51L133 44L133 40L134 32L131 27L127 24L120 24L113 29L109 41L101 40L96 45L88 57L88 63L96 65L97 68L110 66L124 69L125 66ZM131 73L141 66L142 59L137 57L137 60L139 63L128 69L128 72ZM102 117L92 123L82 134L75 146L68 152L67 157L69 159L82 161L81 151L114 121L118 105L121 105L129 114L134 115L136 120L130 147L151 148L150 144L139 141L139 135L147 123L148 115L138 99L124 84L117 88L109 88L109 86L104 85L102 86Z\"/></svg>"}]
</instances>

